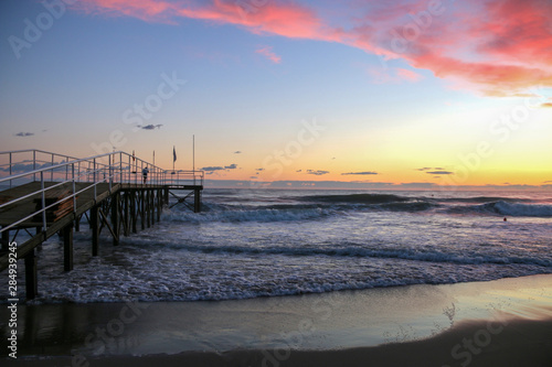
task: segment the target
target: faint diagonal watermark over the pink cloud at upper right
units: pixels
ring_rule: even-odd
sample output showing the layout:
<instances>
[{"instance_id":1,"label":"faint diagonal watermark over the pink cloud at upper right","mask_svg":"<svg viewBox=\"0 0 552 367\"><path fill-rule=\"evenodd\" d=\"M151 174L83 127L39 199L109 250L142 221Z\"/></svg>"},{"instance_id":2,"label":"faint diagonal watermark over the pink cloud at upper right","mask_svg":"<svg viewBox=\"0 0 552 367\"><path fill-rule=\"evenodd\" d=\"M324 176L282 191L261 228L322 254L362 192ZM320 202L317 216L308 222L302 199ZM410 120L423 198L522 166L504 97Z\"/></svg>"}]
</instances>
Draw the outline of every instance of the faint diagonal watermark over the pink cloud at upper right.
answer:
<instances>
[{"instance_id":1,"label":"faint diagonal watermark over the pink cloud at upper right","mask_svg":"<svg viewBox=\"0 0 552 367\"><path fill-rule=\"evenodd\" d=\"M455 0L448 0L445 2L453 3ZM422 34L428 30L433 22L434 18L440 17L446 12L447 8L442 0L429 0L427 1L427 6L425 10L422 10L417 13L408 13L407 15L412 19L412 22L406 23L403 26L393 28L391 33L390 48L395 54L401 55L406 53L408 46L416 42L417 39L422 36ZM383 54L378 54L378 58L382 64L383 68L388 68L386 58Z\"/></svg>"}]
</instances>

